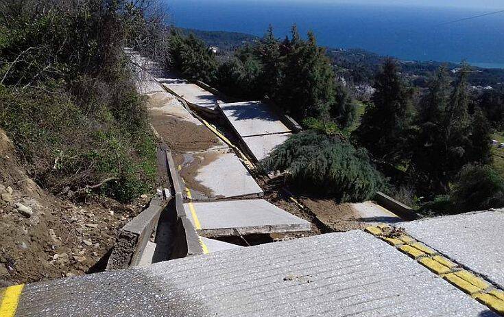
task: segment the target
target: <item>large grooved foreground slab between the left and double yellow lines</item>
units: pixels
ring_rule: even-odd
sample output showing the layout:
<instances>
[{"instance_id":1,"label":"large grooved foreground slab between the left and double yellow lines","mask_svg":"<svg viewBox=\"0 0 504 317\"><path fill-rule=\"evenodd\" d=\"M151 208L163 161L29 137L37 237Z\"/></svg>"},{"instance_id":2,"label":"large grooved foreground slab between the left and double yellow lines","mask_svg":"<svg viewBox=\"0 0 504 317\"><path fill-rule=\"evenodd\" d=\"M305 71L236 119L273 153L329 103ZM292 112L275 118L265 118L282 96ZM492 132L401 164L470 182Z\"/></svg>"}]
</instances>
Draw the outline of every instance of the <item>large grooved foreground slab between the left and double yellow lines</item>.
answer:
<instances>
[{"instance_id":1,"label":"large grooved foreground slab between the left and double yellow lines","mask_svg":"<svg viewBox=\"0 0 504 317\"><path fill-rule=\"evenodd\" d=\"M29 284L16 316L496 314L385 242L350 231Z\"/></svg>"}]
</instances>

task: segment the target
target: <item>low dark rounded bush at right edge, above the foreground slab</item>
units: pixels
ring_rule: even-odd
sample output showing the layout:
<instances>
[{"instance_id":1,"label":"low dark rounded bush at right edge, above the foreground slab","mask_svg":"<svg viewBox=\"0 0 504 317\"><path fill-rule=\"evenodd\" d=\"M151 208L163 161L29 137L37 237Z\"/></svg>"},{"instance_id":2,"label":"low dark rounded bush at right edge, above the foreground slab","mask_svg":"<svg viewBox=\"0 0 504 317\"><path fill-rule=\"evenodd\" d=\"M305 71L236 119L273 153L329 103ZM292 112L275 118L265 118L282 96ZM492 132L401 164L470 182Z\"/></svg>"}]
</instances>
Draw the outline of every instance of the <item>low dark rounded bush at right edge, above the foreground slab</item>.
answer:
<instances>
[{"instance_id":1,"label":"low dark rounded bush at right edge, above the foreground slab","mask_svg":"<svg viewBox=\"0 0 504 317\"><path fill-rule=\"evenodd\" d=\"M504 207L504 178L489 165L461 169L450 193L457 213Z\"/></svg>"}]
</instances>

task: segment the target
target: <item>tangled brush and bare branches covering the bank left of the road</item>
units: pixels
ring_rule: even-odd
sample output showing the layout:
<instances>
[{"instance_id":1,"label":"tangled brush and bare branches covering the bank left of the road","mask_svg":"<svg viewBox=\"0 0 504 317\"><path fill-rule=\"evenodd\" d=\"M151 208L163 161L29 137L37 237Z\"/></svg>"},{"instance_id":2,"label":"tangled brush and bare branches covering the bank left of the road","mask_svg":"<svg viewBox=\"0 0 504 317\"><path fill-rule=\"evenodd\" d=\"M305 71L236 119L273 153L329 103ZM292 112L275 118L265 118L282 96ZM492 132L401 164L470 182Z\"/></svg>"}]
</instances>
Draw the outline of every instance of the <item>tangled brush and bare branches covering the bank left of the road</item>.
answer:
<instances>
[{"instance_id":1,"label":"tangled brush and bare branches covering the bank left of the road","mask_svg":"<svg viewBox=\"0 0 504 317\"><path fill-rule=\"evenodd\" d=\"M136 28L149 29L143 10L130 1L3 1L0 126L39 185L121 201L152 188L154 141L123 54L145 38Z\"/></svg>"}]
</instances>

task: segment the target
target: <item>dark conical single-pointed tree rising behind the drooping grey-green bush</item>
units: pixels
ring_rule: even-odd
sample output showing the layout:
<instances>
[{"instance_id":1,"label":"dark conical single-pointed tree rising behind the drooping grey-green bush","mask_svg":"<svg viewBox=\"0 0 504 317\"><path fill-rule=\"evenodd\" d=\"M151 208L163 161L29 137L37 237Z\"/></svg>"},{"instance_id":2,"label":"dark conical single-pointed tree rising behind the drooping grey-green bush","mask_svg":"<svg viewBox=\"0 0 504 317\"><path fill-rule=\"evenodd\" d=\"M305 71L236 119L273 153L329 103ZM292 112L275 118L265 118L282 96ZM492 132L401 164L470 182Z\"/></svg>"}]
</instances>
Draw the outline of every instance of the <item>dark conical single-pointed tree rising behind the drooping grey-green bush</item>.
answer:
<instances>
[{"instance_id":1,"label":"dark conical single-pointed tree rising behind the drooping grey-green bush","mask_svg":"<svg viewBox=\"0 0 504 317\"><path fill-rule=\"evenodd\" d=\"M356 130L357 139L375 159L397 164L409 155L412 90L400 78L392 59L387 59L376 75L374 89L372 104Z\"/></svg>"}]
</instances>

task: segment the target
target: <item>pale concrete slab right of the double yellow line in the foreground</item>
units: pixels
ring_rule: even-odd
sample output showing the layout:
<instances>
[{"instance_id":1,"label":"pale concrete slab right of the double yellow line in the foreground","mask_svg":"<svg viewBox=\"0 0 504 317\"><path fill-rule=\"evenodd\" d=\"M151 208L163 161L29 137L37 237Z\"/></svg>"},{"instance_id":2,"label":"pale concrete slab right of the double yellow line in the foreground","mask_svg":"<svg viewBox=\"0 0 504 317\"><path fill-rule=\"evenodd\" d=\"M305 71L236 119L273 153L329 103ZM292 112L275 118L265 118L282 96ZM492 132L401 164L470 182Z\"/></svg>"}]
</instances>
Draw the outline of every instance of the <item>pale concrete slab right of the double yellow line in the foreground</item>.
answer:
<instances>
[{"instance_id":1,"label":"pale concrete slab right of the double yellow line in the foreground","mask_svg":"<svg viewBox=\"0 0 504 317\"><path fill-rule=\"evenodd\" d=\"M504 288L504 209L417 220L398 226Z\"/></svg>"}]
</instances>

